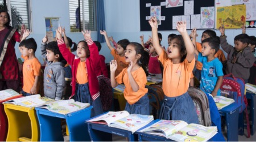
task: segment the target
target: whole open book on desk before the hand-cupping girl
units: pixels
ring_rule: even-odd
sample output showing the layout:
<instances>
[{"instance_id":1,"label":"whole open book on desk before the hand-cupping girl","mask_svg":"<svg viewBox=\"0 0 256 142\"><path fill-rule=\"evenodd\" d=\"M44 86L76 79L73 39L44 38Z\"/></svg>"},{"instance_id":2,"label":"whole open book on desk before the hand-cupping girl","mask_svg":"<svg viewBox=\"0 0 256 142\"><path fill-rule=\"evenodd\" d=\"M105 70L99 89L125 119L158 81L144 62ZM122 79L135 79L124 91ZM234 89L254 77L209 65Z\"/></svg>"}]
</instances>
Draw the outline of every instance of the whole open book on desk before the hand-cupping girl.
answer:
<instances>
[{"instance_id":1,"label":"whole open book on desk before the hand-cupping girl","mask_svg":"<svg viewBox=\"0 0 256 142\"><path fill-rule=\"evenodd\" d=\"M135 132L154 120L152 115L129 114L127 111L109 111L99 117L88 120L87 122L106 124L109 127L120 128Z\"/></svg>"}]
</instances>

